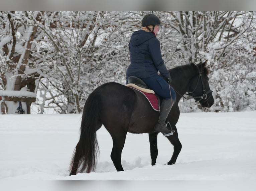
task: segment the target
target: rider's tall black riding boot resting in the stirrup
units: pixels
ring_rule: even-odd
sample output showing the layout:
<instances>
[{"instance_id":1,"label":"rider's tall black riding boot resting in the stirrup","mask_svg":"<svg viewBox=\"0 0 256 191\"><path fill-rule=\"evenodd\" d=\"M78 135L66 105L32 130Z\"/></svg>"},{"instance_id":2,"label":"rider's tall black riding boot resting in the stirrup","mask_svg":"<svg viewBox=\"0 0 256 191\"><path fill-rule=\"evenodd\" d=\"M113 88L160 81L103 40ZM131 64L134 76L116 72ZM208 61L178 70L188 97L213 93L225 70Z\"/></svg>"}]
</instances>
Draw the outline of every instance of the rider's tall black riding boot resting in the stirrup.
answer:
<instances>
[{"instance_id":1,"label":"rider's tall black riding boot resting in the stirrup","mask_svg":"<svg viewBox=\"0 0 256 191\"><path fill-rule=\"evenodd\" d=\"M154 126L154 131L155 132L162 132L164 134L171 133L172 131L167 129L165 126L165 120L171 110L172 105L174 104L173 99L168 99L168 100L163 100L161 106L160 106L160 116L159 119Z\"/></svg>"}]
</instances>

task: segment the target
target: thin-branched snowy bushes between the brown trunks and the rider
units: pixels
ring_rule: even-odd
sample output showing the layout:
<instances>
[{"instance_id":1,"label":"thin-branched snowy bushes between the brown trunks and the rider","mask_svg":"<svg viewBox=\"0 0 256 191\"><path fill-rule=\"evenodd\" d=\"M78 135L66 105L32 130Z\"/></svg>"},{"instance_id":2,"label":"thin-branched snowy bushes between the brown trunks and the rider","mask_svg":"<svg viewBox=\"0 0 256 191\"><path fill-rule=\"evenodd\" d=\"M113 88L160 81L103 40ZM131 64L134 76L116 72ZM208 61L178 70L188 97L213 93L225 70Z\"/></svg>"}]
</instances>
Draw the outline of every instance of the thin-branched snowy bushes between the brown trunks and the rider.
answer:
<instances>
[{"instance_id":1,"label":"thin-branched snowy bushes between the brown trunks and the rider","mask_svg":"<svg viewBox=\"0 0 256 191\"><path fill-rule=\"evenodd\" d=\"M37 58L44 59L46 69L50 68L39 86L50 95L44 97L48 107L58 113L80 113L85 99L97 86L124 82L128 66L124 63L128 46L125 36L130 30L124 21L131 20L131 16L130 12L114 11L42 13L47 19L34 24L45 34L40 43L44 42L47 53L37 54Z\"/></svg>"}]
</instances>

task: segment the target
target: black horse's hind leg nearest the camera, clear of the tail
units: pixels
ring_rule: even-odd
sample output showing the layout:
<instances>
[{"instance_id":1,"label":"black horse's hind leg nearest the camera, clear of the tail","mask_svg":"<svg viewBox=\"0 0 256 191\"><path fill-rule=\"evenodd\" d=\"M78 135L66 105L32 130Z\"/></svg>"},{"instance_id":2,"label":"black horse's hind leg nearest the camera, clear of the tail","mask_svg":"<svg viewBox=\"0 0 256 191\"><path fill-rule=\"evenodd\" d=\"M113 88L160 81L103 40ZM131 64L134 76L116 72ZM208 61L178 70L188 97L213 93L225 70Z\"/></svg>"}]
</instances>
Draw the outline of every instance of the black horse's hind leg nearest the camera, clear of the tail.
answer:
<instances>
[{"instance_id":1,"label":"black horse's hind leg nearest the camera, clear of the tail","mask_svg":"<svg viewBox=\"0 0 256 191\"><path fill-rule=\"evenodd\" d=\"M121 155L122 155L122 150L124 148L127 132L124 131L123 127L120 127L120 128L115 128L115 132L110 132L110 134L113 140L113 148L112 148L110 157L116 167L116 170L124 171L121 164Z\"/></svg>"}]
</instances>

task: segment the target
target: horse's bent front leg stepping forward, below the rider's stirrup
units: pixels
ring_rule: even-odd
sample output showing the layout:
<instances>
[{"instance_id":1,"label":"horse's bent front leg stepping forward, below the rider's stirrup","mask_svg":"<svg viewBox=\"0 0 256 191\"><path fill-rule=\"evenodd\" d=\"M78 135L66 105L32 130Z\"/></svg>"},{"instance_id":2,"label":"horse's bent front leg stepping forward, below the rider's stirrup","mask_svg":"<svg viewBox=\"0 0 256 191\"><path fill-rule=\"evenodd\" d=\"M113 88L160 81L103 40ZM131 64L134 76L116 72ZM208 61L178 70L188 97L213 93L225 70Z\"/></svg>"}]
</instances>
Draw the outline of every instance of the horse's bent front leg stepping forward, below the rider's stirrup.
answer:
<instances>
[{"instance_id":1,"label":"horse's bent front leg stepping forward, below the rider's stirrup","mask_svg":"<svg viewBox=\"0 0 256 191\"><path fill-rule=\"evenodd\" d=\"M182 145L179 141L179 138L178 138L178 132L177 132L176 126L172 125L171 127L175 132L173 133L173 135L167 136L166 138L169 139L169 141L173 145L174 150L173 150L172 157L167 164L175 164L175 162L178 158L179 152L181 150L181 147L182 147Z\"/></svg>"}]
</instances>

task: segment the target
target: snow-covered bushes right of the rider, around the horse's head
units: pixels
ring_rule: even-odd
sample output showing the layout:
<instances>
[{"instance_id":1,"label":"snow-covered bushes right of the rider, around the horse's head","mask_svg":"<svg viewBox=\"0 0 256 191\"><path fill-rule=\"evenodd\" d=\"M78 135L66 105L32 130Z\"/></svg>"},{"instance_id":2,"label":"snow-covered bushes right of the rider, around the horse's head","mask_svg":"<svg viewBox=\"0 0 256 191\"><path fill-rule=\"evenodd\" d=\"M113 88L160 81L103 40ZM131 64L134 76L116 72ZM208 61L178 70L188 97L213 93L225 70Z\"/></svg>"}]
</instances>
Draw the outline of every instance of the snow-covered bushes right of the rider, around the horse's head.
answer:
<instances>
[{"instance_id":1,"label":"snow-covered bushes right of the rider, around the horse's head","mask_svg":"<svg viewBox=\"0 0 256 191\"><path fill-rule=\"evenodd\" d=\"M158 14L165 18L161 37L168 39L172 46L168 46L168 43L162 45L165 58L170 58L166 60L167 66L179 65L181 61L186 64L206 59L210 61L210 74L214 73L210 85L215 90L216 107L208 110L255 109L251 99L255 91L250 88L250 98L246 94L248 90L243 88L241 91L243 78L239 74L241 69L244 74L255 71L255 12L164 11ZM225 84L220 82L223 77ZM252 81L245 87L248 86L255 87L255 83ZM244 92L245 95L238 95L238 92ZM251 101L245 101L245 97ZM193 110L197 108L195 106ZM183 111L191 111L190 101L181 108Z\"/></svg>"}]
</instances>

